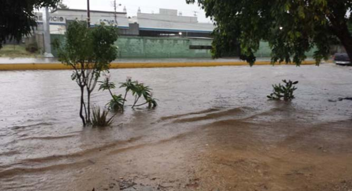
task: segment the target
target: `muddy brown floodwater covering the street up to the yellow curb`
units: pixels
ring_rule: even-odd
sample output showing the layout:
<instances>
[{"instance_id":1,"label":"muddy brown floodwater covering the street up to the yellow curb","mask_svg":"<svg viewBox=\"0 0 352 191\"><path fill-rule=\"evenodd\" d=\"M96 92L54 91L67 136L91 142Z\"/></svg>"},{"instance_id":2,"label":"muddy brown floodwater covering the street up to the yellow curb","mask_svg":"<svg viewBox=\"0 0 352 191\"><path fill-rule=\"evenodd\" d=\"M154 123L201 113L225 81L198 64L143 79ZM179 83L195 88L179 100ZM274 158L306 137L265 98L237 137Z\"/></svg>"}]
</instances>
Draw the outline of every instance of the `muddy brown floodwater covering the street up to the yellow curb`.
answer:
<instances>
[{"instance_id":1,"label":"muddy brown floodwater covering the street up to the yellow curb","mask_svg":"<svg viewBox=\"0 0 352 191\"><path fill-rule=\"evenodd\" d=\"M0 72L0 190L352 190L352 68L111 70L159 107L104 129L82 128L70 74ZM297 99L268 101L282 79Z\"/></svg>"}]
</instances>

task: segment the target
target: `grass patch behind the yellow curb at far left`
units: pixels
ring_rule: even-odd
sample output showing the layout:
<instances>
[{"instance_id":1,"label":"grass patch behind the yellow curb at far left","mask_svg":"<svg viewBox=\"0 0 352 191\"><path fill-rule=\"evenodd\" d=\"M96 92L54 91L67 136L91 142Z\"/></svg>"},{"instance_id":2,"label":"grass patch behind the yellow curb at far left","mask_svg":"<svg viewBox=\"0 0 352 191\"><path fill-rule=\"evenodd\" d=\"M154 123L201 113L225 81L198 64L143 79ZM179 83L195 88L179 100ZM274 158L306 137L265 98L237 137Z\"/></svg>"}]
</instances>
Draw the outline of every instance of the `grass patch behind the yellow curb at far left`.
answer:
<instances>
[{"instance_id":1,"label":"grass patch behind the yellow curb at far left","mask_svg":"<svg viewBox=\"0 0 352 191\"><path fill-rule=\"evenodd\" d=\"M24 45L4 45L3 48L0 49L0 57L31 57L37 58L42 57L39 52L28 52L25 50Z\"/></svg>"}]
</instances>

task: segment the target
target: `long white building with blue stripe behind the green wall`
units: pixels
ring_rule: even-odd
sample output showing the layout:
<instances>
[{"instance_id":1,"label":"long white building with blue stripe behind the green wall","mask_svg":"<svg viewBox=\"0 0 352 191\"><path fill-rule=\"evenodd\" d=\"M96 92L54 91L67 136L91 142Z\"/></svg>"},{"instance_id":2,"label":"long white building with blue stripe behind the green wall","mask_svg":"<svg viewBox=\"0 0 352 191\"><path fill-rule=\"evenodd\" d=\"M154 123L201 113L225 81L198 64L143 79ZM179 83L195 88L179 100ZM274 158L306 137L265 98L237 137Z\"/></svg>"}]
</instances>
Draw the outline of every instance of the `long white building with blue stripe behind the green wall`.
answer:
<instances>
[{"instance_id":1,"label":"long white building with blue stripe behind the green wall","mask_svg":"<svg viewBox=\"0 0 352 191\"><path fill-rule=\"evenodd\" d=\"M124 9L126 10L126 9ZM114 25L114 12L90 11L91 25L106 24ZM36 13L38 31L42 30L42 13ZM86 20L86 10L57 9L50 13L50 33L65 34L67 21ZM182 37L210 37L214 29L213 23L200 23L195 16L182 16L178 10L160 9L159 13L141 13L128 18L126 12L116 12L117 25L121 35L139 36L182 36Z\"/></svg>"}]
</instances>

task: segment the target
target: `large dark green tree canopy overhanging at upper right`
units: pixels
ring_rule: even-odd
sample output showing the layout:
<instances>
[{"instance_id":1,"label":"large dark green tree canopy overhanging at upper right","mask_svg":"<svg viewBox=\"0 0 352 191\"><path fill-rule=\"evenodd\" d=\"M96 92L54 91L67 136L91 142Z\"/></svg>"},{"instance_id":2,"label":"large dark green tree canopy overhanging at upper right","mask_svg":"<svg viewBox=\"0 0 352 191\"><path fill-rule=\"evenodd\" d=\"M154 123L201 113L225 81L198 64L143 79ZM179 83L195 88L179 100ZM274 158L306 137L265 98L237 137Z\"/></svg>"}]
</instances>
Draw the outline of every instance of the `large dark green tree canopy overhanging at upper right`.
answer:
<instances>
[{"instance_id":1,"label":"large dark green tree canopy overhanging at upper right","mask_svg":"<svg viewBox=\"0 0 352 191\"><path fill-rule=\"evenodd\" d=\"M251 65L260 41L272 49L272 62L306 59L316 48L317 65L328 59L333 42L340 42L352 60L352 0L186 0L198 3L216 24L213 57L241 46L241 58Z\"/></svg>"}]
</instances>

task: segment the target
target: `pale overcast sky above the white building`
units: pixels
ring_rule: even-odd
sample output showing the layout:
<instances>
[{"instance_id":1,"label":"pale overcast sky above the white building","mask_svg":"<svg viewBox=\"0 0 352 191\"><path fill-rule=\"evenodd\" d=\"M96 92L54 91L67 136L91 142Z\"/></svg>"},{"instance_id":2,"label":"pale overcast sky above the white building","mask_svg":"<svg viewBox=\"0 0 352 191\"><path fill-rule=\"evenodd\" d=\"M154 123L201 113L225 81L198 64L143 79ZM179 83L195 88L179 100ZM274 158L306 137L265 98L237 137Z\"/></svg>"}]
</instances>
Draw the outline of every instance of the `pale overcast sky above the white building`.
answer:
<instances>
[{"instance_id":1,"label":"pale overcast sky above the white building","mask_svg":"<svg viewBox=\"0 0 352 191\"><path fill-rule=\"evenodd\" d=\"M210 22L206 18L204 11L197 5L188 5L185 0L116 0L117 4L122 4L118 11L123 11L126 6L128 16L135 16L138 7L142 13L158 13L159 8L178 9L185 16L194 15L193 11L197 11L199 22ZM64 4L71 9L86 9L86 0L64 0ZM90 0L91 10L113 11L111 0Z\"/></svg>"}]
</instances>

